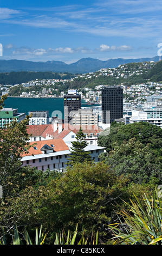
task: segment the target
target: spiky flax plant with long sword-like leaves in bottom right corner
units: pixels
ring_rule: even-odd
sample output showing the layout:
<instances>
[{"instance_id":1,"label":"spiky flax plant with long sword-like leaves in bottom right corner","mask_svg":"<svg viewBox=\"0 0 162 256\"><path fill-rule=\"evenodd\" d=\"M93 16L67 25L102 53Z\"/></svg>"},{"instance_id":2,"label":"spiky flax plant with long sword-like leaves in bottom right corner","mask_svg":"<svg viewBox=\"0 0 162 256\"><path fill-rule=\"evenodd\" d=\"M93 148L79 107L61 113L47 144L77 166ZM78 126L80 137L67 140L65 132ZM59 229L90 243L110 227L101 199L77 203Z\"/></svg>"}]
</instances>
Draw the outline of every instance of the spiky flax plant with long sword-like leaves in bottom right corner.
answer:
<instances>
[{"instance_id":1,"label":"spiky flax plant with long sword-like leaves in bottom right corner","mask_svg":"<svg viewBox=\"0 0 162 256\"><path fill-rule=\"evenodd\" d=\"M137 197L135 199L136 202L131 200L129 212L120 212L124 222L121 222L119 217L119 223L109 225L114 234L114 244L161 244L162 208L158 193L154 193L152 199L148 199L144 194L144 204L141 204Z\"/></svg>"}]
</instances>

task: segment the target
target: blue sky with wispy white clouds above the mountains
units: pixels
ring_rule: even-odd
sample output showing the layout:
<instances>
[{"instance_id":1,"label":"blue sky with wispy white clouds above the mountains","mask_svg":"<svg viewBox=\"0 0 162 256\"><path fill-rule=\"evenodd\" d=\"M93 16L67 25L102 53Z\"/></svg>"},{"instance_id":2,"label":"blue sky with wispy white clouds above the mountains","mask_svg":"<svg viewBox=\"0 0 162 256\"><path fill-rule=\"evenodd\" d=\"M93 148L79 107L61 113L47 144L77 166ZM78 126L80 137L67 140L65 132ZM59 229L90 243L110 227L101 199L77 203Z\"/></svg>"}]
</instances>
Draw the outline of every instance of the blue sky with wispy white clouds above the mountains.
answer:
<instances>
[{"instance_id":1,"label":"blue sky with wispy white clouds above the mountains","mask_svg":"<svg viewBox=\"0 0 162 256\"><path fill-rule=\"evenodd\" d=\"M154 57L161 13L161 0L1 0L0 59Z\"/></svg>"}]
</instances>

